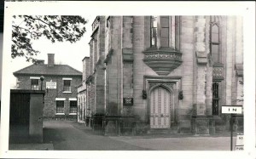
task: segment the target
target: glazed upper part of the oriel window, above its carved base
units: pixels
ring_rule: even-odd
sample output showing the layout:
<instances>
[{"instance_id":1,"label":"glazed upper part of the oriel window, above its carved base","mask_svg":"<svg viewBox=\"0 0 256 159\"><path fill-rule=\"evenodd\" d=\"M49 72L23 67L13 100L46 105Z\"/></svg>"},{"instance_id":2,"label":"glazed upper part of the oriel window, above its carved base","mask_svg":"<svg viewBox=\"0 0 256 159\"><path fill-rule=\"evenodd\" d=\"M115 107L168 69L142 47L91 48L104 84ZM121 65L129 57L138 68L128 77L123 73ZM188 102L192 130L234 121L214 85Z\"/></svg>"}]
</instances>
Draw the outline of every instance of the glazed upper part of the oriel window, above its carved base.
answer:
<instances>
[{"instance_id":1,"label":"glazed upper part of the oriel window, above its carved base","mask_svg":"<svg viewBox=\"0 0 256 159\"><path fill-rule=\"evenodd\" d=\"M150 17L150 47L178 49L179 17Z\"/></svg>"}]
</instances>

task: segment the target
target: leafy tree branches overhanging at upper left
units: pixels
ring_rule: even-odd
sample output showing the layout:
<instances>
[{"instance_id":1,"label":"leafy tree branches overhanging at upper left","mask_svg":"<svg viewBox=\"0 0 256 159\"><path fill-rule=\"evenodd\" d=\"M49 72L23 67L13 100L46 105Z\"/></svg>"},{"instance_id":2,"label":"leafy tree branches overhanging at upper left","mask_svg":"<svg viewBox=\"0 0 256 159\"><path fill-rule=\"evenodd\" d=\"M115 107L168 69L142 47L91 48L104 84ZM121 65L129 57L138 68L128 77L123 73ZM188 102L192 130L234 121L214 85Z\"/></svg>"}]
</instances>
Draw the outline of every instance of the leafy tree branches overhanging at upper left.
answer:
<instances>
[{"instance_id":1,"label":"leafy tree branches overhanging at upper left","mask_svg":"<svg viewBox=\"0 0 256 159\"><path fill-rule=\"evenodd\" d=\"M25 57L26 61L32 60L39 54L38 50L32 48L32 41L40 37L46 37L51 43L67 41L75 43L83 37L85 24L81 16L61 15L14 15L12 25L11 57ZM19 21L19 24L17 24Z\"/></svg>"}]
</instances>

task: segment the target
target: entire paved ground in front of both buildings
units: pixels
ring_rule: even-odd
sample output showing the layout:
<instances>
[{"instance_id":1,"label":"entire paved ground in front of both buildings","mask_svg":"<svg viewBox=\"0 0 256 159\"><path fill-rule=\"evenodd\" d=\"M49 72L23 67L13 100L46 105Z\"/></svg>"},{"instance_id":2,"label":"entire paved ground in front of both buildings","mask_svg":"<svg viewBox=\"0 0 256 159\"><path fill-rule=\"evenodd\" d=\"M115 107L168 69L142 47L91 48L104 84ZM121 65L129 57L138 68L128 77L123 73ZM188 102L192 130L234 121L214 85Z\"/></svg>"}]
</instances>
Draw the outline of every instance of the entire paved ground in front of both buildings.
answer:
<instances>
[{"instance_id":1,"label":"entire paved ground in front of both buildings","mask_svg":"<svg viewBox=\"0 0 256 159\"><path fill-rule=\"evenodd\" d=\"M54 150L230 150L230 137L108 137L71 121L44 121L44 143Z\"/></svg>"}]
</instances>

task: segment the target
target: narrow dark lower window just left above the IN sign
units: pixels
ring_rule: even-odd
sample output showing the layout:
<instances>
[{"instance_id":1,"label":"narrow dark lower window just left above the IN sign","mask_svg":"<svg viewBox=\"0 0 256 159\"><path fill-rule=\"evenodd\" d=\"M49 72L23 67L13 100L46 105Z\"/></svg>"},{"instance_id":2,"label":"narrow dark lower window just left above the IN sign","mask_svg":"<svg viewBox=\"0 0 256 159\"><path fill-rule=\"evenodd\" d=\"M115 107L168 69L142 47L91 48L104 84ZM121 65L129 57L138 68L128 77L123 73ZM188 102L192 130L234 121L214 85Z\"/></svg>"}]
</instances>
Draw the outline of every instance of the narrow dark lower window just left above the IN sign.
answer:
<instances>
[{"instance_id":1,"label":"narrow dark lower window just left above the IN sign","mask_svg":"<svg viewBox=\"0 0 256 159\"><path fill-rule=\"evenodd\" d=\"M219 85L218 82L212 83L212 115L218 116L219 110Z\"/></svg>"}]
</instances>

